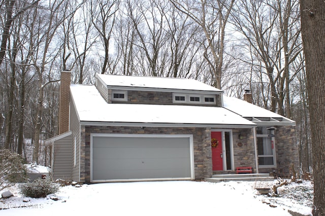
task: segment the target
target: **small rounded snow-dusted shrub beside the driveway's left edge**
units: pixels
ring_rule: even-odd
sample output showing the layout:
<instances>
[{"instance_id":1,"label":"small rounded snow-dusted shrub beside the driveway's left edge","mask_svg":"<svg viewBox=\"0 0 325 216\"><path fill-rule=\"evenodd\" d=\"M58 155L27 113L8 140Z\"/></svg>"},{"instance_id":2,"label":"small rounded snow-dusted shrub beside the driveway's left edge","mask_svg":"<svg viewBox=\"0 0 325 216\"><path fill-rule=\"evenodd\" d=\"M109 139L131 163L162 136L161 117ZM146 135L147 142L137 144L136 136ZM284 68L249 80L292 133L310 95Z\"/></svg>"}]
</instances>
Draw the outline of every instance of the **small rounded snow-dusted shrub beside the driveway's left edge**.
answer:
<instances>
[{"instance_id":1,"label":"small rounded snow-dusted shrub beside the driveway's left edge","mask_svg":"<svg viewBox=\"0 0 325 216\"><path fill-rule=\"evenodd\" d=\"M24 183L19 186L20 193L25 197L40 198L59 191L59 186L50 179L37 178L32 183Z\"/></svg>"}]
</instances>

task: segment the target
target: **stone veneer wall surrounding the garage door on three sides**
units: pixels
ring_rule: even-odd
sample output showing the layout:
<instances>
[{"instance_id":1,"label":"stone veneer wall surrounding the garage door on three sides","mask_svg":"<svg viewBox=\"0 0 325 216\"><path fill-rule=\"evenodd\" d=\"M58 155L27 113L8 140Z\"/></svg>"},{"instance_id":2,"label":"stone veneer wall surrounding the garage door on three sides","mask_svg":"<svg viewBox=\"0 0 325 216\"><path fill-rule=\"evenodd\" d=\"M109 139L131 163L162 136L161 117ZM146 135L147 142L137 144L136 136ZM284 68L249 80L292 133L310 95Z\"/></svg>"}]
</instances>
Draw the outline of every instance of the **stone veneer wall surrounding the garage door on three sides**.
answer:
<instances>
[{"instance_id":1,"label":"stone veneer wall surrounding the garage door on three sides","mask_svg":"<svg viewBox=\"0 0 325 216\"><path fill-rule=\"evenodd\" d=\"M90 134L192 134L194 154L194 177L203 179L212 175L211 129L172 127L111 127L81 126L80 182L90 182Z\"/></svg>"}]
</instances>

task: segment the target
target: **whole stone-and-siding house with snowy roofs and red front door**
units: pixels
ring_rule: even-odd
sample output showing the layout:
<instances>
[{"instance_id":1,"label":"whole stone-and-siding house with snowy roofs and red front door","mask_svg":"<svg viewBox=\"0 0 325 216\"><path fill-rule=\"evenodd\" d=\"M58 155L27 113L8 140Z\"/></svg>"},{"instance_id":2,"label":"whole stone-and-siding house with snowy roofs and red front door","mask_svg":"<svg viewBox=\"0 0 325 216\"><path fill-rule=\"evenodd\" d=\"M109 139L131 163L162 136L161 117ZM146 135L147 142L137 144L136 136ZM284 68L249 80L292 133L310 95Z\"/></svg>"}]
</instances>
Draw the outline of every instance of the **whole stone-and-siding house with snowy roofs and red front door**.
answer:
<instances>
[{"instance_id":1,"label":"whole stone-and-siding house with snowy roofs and red front door","mask_svg":"<svg viewBox=\"0 0 325 216\"><path fill-rule=\"evenodd\" d=\"M62 71L59 135L45 141L53 177L76 182L204 179L251 166L299 168L293 120L191 79Z\"/></svg>"}]
</instances>

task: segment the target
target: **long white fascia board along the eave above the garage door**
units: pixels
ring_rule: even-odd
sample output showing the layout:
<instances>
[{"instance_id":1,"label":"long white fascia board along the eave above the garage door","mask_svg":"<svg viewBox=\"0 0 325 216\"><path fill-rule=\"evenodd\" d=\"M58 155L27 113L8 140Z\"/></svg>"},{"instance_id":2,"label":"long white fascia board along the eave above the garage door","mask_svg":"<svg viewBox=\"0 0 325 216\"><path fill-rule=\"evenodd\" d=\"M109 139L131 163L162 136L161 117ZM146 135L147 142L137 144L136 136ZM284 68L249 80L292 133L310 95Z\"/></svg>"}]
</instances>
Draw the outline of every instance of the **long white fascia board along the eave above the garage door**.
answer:
<instances>
[{"instance_id":1,"label":"long white fascia board along the eave above the garage door","mask_svg":"<svg viewBox=\"0 0 325 216\"><path fill-rule=\"evenodd\" d=\"M253 128L257 125L228 125L228 124L182 124L182 123L145 123L145 122L91 122L81 121L84 126L118 126L118 127L211 127L211 128Z\"/></svg>"}]
</instances>

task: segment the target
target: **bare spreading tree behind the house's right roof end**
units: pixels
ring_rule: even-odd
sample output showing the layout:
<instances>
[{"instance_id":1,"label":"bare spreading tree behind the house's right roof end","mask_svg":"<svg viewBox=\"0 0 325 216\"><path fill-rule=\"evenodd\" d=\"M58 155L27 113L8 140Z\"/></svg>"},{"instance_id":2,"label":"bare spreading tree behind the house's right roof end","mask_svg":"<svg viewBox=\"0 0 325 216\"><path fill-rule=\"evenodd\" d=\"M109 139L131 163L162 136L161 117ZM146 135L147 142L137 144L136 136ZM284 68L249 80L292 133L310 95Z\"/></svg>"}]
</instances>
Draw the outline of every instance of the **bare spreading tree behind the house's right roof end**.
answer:
<instances>
[{"instance_id":1,"label":"bare spreading tree behind the house's right roof end","mask_svg":"<svg viewBox=\"0 0 325 216\"><path fill-rule=\"evenodd\" d=\"M255 64L256 69L263 66L256 70L256 77L263 88L270 89L263 96L265 103L271 101L272 112L288 117L291 117L289 83L296 76L290 74L290 65L302 50L297 10L297 1L250 0L238 1L232 14L236 29L245 38L241 44L243 50L250 48L246 49L247 58L242 60Z\"/></svg>"}]
</instances>

